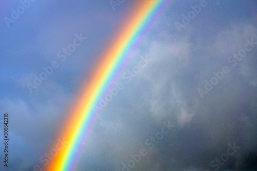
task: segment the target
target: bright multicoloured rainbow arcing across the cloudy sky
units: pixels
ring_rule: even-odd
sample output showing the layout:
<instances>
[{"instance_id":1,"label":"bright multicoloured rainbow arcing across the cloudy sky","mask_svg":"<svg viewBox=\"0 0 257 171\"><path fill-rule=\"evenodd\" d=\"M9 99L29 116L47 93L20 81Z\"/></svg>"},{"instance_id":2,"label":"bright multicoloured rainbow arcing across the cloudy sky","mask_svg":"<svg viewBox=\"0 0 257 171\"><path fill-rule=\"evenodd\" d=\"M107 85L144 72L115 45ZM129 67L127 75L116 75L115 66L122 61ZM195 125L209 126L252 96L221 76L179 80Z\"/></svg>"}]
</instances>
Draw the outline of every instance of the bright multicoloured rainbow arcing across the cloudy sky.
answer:
<instances>
[{"instance_id":1,"label":"bright multicoloured rainbow arcing across the cloudy sky","mask_svg":"<svg viewBox=\"0 0 257 171\"><path fill-rule=\"evenodd\" d=\"M70 112L64 124L64 129L60 131L59 139L67 141L67 145L59 151L59 154L51 161L46 170L74 170L75 163L80 154L82 143L86 141L90 130L96 121L100 111L95 110L101 97L112 85L122 71L122 68L132 58L132 51L136 49L143 37L150 31L153 25L173 0L138 0L128 18L131 20L121 27L115 39L111 41L109 47L99 58L94 67L94 72L90 75L90 82L84 84L78 98L76 107Z\"/></svg>"}]
</instances>

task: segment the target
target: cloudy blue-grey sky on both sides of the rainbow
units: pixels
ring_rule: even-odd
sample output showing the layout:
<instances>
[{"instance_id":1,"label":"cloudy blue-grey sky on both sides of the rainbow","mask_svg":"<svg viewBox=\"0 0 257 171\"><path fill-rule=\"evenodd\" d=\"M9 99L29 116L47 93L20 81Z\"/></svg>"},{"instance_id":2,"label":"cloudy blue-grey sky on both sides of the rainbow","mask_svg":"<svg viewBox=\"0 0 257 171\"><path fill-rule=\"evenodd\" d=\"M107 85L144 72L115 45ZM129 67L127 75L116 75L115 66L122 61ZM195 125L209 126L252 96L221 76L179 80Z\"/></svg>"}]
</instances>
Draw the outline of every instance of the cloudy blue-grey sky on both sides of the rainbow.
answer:
<instances>
[{"instance_id":1,"label":"cloudy blue-grey sky on both sides of the rainbow","mask_svg":"<svg viewBox=\"0 0 257 171\"><path fill-rule=\"evenodd\" d=\"M0 2L0 170L43 171L81 86L135 1L31 1L12 20L23 2ZM75 170L257 170L257 2L204 1L192 12L201 3L174 1L158 18ZM70 44L78 46L64 55Z\"/></svg>"}]
</instances>

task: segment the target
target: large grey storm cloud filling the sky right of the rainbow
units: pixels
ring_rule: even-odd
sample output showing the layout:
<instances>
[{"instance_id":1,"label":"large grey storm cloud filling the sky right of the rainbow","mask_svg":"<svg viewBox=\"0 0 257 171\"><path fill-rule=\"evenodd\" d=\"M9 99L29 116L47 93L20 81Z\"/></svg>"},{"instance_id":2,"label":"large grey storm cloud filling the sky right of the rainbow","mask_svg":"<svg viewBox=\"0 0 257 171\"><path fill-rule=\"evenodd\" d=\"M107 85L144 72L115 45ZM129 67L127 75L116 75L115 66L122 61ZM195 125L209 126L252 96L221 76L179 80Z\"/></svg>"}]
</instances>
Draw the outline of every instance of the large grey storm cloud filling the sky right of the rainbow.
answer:
<instances>
[{"instance_id":1,"label":"large grey storm cloud filling the sky right of the rainbow","mask_svg":"<svg viewBox=\"0 0 257 171\"><path fill-rule=\"evenodd\" d=\"M227 38L221 39L221 35ZM136 163L134 170L254 168L251 161L255 160L257 145L256 68L249 62L255 62L257 48L231 68L205 99L197 92L204 80L213 77L213 71L229 65L227 58L245 45L246 37L257 40L256 27L235 23L213 35L213 42L195 43L181 37L179 42L163 43L160 36L148 43L145 49L149 49L151 65L143 68L131 83L124 84L124 90L104 109L94 132L97 136L91 140L92 144L99 142L95 145L98 149L89 151L116 164L116 170L121 170L122 163L127 164L132 159L130 155L139 154L141 148L146 149L147 155ZM229 44L227 51L223 50L225 44ZM192 54L194 49L206 55ZM208 54L212 58L206 58ZM137 54L138 58L140 55ZM194 61L196 57L204 63ZM205 63L210 64L208 68ZM168 120L175 123L175 128L150 149L145 141L155 136L162 122ZM216 158L224 159L231 145L240 148L226 162L221 160L222 164L218 164Z\"/></svg>"}]
</instances>

